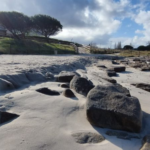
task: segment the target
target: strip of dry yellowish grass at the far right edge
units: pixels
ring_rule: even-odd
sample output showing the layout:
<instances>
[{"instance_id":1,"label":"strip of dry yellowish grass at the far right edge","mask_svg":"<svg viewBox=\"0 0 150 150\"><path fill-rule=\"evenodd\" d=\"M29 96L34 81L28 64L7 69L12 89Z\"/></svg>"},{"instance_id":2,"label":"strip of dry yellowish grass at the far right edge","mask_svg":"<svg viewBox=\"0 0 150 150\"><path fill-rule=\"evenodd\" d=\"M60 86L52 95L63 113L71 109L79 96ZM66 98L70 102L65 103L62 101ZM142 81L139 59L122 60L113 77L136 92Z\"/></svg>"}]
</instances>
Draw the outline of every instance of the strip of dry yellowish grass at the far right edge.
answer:
<instances>
[{"instance_id":1,"label":"strip of dry yellowish grass at the far right edge","mask_svg":"<svg viewBox=\"0 0 150 150\"><path fill-rule=\"evenodd\" d=\"M121 51L120 56L124 57L150 56L150 51L124 50Z\"/></svg>"}]
</instances>

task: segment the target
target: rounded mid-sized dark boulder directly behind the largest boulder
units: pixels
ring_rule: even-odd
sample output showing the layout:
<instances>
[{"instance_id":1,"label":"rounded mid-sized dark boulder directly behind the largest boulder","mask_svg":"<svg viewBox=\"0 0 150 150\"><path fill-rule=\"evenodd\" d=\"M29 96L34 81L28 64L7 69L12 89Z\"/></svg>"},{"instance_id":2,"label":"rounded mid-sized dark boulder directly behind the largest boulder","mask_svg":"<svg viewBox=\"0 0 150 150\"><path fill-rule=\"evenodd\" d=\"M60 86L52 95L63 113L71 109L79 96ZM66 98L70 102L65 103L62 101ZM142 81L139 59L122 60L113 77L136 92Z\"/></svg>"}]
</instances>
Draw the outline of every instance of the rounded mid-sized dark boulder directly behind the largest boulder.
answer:
<instances>
[{"instance_id":1,"label":"rounded mid-sized dark boulder directly behind the largest boulder","mask_svg":"<svg viewBox=\"0 0 150 150\"><path fill-rule=\"evenodd\" d=\"M74 76L70 82L70 88L77 93L87 96L88 92L93 88L92 82L85 78Z\"/></svg>"}]
</instances>

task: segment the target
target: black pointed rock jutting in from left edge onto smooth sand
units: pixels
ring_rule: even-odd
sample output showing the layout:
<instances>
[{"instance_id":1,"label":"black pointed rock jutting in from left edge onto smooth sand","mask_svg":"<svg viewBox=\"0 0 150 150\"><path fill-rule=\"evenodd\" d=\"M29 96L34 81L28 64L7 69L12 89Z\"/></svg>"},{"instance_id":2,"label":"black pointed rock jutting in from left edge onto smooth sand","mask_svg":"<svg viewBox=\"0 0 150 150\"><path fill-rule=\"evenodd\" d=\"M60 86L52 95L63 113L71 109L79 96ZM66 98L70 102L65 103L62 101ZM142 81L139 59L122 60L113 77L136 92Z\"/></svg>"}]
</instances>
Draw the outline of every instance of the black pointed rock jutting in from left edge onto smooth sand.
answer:
<instances>
[{"instance_id":1,"label":"black pointed rock jutting in from left edge onto smooth sand","mask_svg":"<svg viewBox=\"0 0 150 150\"><path fill-rule=\"evenodd\" d=\"M17 114L0 111L0 124L11 121L17 117L19 117L19 115L17 115Z\"/></svg>"}]
</instances>

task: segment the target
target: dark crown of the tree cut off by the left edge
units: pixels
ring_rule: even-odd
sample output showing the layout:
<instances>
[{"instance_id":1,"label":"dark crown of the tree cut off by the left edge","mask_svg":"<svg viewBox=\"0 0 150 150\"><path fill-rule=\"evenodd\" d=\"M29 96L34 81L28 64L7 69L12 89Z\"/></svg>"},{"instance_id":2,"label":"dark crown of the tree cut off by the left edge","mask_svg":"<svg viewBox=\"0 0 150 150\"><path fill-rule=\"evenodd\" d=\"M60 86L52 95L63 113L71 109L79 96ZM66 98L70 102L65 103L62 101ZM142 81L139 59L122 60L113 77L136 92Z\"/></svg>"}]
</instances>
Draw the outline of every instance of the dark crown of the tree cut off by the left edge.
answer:
<instances>
[{"instance_id":1,"label":"dark crown of the tree cut off by the left edge","mask_svg":"<svg viewBox=\"0 0 150 150\"><path fill-rule=\"evenodd\" d=\"M19 12L0 12L0 24L19 39L18 34L25 34L31 28L31 20L28 16Z\"/></svg>"}]
</instances>

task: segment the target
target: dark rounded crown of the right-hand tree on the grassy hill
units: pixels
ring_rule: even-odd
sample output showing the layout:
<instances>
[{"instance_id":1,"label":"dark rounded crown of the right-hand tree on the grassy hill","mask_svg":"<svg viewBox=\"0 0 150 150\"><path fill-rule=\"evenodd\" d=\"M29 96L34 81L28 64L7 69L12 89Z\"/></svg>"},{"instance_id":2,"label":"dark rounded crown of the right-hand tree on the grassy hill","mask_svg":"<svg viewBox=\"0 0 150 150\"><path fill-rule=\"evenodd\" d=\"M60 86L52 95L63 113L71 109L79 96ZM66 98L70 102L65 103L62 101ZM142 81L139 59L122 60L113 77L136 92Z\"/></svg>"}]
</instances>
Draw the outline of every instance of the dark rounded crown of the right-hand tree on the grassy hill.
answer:
<instances>
[{"instance_id":1,"label":"dark rounded crown of the right-hand tree on the grassy hill","mask_svg":"<svg viewBox=\"0 0 150 150\"><path fill-rule=\"evenodd\" d=\"M49 36L57 34L62 30L61 23L47 15L35 15L31 17L33 22L33 30L45 36L48 39Z\"/></svg>"}]
</instances>

